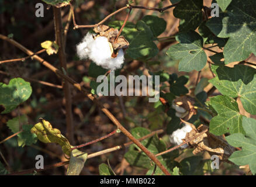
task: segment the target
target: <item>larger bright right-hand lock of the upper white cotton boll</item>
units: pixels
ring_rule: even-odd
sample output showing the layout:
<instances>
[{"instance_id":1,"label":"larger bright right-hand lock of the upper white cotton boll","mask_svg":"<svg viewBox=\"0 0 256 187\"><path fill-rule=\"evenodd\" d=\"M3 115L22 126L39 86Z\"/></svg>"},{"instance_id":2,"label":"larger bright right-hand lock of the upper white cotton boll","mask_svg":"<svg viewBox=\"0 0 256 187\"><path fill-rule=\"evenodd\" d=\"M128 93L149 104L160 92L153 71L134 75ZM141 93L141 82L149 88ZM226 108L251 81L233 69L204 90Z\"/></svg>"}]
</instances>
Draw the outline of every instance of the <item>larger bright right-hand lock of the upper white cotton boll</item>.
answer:
<instances>
[{"instance_id":1,"label":"larger bright right-hand lock of the upper white cotton boll","mask_svg":"<svg viewBox=\"0 0 256 187\"><path fill-rule=\"evenodd\" d=\"M120 49L117 57L112 58L112 51L108 39L103 36L96 37L94 42L90 43L89 58L94 63L108 70L116 70L120 68L124 61L123 50Z\"/></svg>"}]
</instances>

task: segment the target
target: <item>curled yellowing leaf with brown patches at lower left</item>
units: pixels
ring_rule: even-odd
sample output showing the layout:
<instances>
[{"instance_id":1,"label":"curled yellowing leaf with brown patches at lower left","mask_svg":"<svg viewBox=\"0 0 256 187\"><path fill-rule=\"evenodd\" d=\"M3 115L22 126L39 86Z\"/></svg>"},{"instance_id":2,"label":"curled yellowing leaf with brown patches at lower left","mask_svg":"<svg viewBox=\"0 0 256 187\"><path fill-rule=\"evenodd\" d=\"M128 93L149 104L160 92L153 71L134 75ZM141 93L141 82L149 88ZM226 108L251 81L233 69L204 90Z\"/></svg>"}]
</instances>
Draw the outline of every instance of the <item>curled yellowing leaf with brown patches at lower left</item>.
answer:
<instances>
[{"instance_id":1,"label":"curled yellowing leaf with brown patches at lower left","mask_svg":"<svg viewBox=\"0 0 256 187\"><path fill-rule=\"evenodd\" d=\"M61 134L60 130L53 129L46 120L41 119L41 122L36 123L31 129L31 133L35 133L37 138L43 143L59 144L66 155L71 155L70 142Z\"/></svg>"}]
</instances>

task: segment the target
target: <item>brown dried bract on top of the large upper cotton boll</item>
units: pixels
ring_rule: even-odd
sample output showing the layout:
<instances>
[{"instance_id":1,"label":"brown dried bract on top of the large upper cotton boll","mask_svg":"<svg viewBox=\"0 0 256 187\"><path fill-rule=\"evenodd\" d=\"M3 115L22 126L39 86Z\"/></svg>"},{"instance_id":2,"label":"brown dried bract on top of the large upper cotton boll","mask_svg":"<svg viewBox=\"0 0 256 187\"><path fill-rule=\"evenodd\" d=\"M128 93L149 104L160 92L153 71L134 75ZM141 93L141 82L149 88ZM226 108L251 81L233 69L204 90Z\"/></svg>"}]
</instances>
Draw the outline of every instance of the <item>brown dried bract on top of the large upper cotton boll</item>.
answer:
<instances>
[{"instance_id":1,"label":"brown dried bract on top of the large upper cotton boll","mask_svg":"<svg viewBox=\"0 0 256 187\"><path fill-rule=\"evenodd\" d=\"M126 49L127 47L129 47L129 42L123 36L119 36L117 41L115 42L115 39L119 32L118 29L114 29L106 25L99 25L94 27L94 32L97 33L98 36L105 36L108 38L108 41L113 46L114 53L117 52L119 49Z\"/></svg>"}]
</instances>

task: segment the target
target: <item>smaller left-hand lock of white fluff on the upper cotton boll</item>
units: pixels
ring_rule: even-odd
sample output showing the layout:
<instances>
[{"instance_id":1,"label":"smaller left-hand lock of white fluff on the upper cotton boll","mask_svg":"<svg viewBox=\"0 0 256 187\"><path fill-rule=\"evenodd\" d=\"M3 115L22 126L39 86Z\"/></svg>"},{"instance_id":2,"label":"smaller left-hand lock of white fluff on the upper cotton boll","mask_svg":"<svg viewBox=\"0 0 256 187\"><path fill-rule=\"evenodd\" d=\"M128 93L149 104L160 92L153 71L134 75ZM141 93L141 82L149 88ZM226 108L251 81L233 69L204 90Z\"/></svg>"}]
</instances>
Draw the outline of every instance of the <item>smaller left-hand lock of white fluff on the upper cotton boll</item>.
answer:
<instances>
[{"instance_id":1,"label":"smaller left-hand lock of white fluff on the upper cotton boll","mask_svg":"<svg viewBox=\"0 0 256 187\"><path fill-rule=\"evenodd\" d=\"M77 55L80 59L86 59L90 53L90 44L94 41L91 33L87 33L87 35L82 39L81 43L77 45Z\"/></svg>"}]
</instances>

